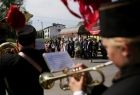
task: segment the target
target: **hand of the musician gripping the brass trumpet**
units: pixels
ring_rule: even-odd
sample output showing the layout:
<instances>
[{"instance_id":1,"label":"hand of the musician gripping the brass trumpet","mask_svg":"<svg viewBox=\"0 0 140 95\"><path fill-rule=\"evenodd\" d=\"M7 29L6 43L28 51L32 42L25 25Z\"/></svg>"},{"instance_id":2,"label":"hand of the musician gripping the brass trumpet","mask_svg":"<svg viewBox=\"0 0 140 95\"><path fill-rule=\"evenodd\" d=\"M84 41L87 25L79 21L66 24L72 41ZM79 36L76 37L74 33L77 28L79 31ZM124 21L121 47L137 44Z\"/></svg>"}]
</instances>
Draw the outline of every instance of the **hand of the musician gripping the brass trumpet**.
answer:
<instances>
[{"instance_id":1,"label":"hand of the musician gripping the brass trumpet","mask_svg":"<svg viewBox=\"0 0 140 95\"><path fill-rule=\"evenodd\" d=\"M75 64L73 66L73 72L80 71L82 69L87 68L84 64ZM69 86L70 89L74 91L82 90L86 92L87 84L90 84L92 82L92 77L89 72L82 72L73 74L69 80Z\"/></svg>"}]
</instances>

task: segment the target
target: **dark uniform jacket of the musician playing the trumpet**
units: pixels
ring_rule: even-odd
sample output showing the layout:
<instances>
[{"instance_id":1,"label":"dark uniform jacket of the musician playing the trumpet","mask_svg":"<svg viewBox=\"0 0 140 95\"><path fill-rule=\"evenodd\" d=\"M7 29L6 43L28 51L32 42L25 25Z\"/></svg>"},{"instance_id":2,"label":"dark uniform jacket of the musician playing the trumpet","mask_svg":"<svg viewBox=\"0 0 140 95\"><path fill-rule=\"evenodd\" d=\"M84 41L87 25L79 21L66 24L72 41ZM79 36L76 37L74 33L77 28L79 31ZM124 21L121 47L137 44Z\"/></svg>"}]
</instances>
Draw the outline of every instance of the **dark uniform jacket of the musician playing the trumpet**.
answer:
<instances>
[{"instance_id":1,"label":"dark uniform jacket of the musician playing the trumpet","mask_svg":"<svg viewBox=\"0 0 140 95\"><path fill-rule=\"evenodd\" d=\"M140 64L122 68L120 76L103 95L140 95Z\"/></svg>"}]
</instances>

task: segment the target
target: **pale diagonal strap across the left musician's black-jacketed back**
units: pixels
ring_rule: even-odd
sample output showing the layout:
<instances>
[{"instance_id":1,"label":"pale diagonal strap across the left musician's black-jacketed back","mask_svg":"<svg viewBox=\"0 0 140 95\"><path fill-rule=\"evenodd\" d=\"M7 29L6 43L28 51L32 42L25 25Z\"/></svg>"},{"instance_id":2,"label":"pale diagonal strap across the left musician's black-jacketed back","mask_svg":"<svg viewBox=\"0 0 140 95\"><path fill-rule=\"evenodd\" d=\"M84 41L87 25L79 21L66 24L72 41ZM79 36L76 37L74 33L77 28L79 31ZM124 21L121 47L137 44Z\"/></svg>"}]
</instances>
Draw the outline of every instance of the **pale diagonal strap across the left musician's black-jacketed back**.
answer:
<instances>
[{"instance_id":1,"label":"pale diagonal strap across the left musician's black-jacketed back","mask_svg":"<svg viewBox=\"0 0 140 95\"><path fill-rule=\"evenodd\" d=\"M33 59L31 59L23 52L19 52L18 54L24 59L26 59L31 65L33 65L40 73L42 72L42 68Z\"/></svg>"}]
</instances>

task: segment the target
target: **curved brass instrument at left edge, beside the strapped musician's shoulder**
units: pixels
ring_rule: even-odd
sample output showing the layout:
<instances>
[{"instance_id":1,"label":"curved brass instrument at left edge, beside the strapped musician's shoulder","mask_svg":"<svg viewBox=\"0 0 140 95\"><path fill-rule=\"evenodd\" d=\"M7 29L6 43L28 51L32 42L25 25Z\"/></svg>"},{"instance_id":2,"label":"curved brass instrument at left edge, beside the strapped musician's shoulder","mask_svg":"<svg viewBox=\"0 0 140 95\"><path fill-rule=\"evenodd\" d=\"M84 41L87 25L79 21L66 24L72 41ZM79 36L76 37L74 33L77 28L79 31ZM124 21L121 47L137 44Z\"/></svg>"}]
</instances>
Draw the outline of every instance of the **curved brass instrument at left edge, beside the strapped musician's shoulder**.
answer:
<instances>
[{"instance_id":1,"label":"curved brass instrument at left edge, beside the strapped musician's shoulder","mask_svg":"<svg viewBox=\"0 0 140 95\"><path fill-rule=\"evenodd\" d=\"M16 43L14 42L5 42L0 44L0 55L6 53L18 53Z\"/></svg>"}]
</instances>

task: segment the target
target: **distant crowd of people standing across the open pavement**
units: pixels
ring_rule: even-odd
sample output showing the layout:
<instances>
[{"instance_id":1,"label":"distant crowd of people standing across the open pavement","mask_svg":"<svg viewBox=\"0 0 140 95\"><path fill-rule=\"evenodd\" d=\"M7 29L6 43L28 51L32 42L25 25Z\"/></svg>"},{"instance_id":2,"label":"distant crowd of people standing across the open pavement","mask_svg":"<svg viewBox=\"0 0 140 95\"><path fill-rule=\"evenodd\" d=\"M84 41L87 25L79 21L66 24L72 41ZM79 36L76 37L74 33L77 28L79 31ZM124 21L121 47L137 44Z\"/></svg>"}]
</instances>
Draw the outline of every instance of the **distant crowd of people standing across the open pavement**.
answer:
<instances>
[{"instance_id":1,"label":"distant crowd of people standing across the open pavement","mask_svg":"<svg viewBox=\"0 0 140 95\"><path fill-rule=\"evenodd\" d=\"M107 53L101 40L92 38L58 38L56 40L49 39L44 43L46 52L67 51L68 54L74 58L91 59L97 58L98 53L101 53L102 58L107 58Z\"/></svg>"}]
</instances>

